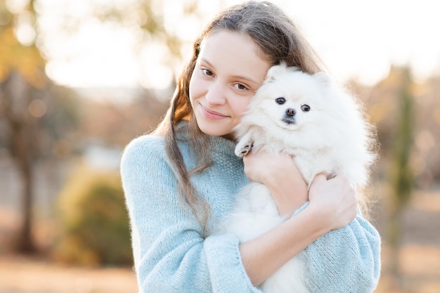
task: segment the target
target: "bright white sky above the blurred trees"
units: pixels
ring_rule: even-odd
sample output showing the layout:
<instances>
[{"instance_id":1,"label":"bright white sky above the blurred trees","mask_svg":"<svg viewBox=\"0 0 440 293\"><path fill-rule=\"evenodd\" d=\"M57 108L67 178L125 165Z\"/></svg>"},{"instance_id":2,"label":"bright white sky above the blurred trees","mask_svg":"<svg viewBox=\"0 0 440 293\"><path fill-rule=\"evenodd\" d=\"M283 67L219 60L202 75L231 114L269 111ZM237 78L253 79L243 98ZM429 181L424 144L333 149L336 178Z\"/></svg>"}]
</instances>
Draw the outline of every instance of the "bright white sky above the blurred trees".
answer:
<instances>
[{"instance_id":1,"label":"bright white sky above the blurred trees","mask_svg":"<svg viewBox=\"0 0 440 293\"><path fill-rule=\"evenodd\" d=\"M17 0L18 1L18 0ZM20 0L25 1L25 0ZM134 0L113 1L116 6ZM164 67L164 50L146 44L134 52L138 36L125 26L84 20L75 34L60 32L70 15L91 13L89 0L39 0L48 65L46 72L59 84L75 87L153 86L163 88L172 79ZM241 1L225 0L226 4ZM374 84L387 76L390 65L409 64L417 79L440 74L440 17L432 0L273 0L302 27L332 73L344 81L355 77ZM159 1L167 6L167 27L189 42L216 13L215 0L200 5L205 20L182 19L181 0ZM172 8L171 8L172 7ZM139 52L139 51L138 51Z\"/></svg>"}]
</instances>

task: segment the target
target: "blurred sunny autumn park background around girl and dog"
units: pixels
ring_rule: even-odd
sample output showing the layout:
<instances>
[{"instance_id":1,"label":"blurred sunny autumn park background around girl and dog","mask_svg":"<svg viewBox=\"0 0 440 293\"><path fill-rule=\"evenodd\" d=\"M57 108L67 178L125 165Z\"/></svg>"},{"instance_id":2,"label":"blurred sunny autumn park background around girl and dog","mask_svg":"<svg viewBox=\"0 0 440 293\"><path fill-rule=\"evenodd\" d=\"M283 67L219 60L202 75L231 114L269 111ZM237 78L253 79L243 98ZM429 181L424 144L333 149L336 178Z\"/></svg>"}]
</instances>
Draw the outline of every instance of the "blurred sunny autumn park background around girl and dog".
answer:
<instances>
[{"instance_id":1,"label":"blurred sunny autumn park background around girl and dog","mask_svg":"<svg viewBox=\"0 0 440 293\"><path fill-rule=\"evenodd\" d=\"M226 0L0 0L0 293L137 292L119 157ZM377 126L376 292L440 292L435 1L273 1Z\"/></svg>"}]
</instances>

